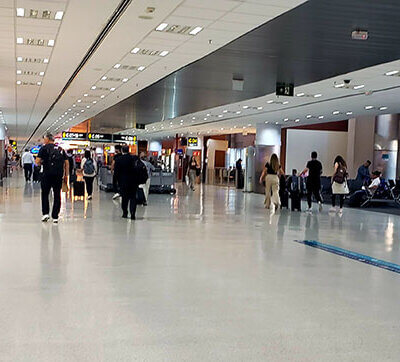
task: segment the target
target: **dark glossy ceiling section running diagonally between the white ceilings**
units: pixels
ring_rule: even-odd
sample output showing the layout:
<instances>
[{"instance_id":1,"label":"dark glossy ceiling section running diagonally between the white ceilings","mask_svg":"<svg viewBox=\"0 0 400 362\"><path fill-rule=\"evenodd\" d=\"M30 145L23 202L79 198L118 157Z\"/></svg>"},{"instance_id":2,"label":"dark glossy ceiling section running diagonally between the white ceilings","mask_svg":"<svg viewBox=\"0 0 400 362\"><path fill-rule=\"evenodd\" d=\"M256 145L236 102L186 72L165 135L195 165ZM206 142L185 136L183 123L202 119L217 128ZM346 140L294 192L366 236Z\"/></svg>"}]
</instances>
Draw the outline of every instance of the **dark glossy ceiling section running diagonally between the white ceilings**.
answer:
<instances>
[{"instance_id":1,"label":"dark glossy ceiling section running diagonally between the white ceilings","mask_svg":"<svg viewBox=\"0 0 400 362\"><path fill-rule=\"evenodd\" d=\"M274 93L277 81L299 86L399 59L399 13L398 0L308 1L103 111L92 125L122 130ZM356 29L369 39L352 40ZM232 90L233 74L243 76L243 91Z\"/></svg>"}]
</instances>

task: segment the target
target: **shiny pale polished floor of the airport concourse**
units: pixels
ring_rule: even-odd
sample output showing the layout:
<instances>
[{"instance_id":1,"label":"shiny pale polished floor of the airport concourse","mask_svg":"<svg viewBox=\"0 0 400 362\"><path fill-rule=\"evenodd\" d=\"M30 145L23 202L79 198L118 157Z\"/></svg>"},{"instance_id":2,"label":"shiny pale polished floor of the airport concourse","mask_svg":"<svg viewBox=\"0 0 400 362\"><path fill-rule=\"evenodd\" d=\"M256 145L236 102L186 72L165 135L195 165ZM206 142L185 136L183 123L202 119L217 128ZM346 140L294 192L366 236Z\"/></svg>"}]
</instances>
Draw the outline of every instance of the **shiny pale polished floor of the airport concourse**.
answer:
<instances>
[{"instance_id":1,"label":"shiny pale polished floor of the airport concourse","mask_svg":"<svg viewBox=\"0 0 400 362\"><path fill-rule=\"evenodd\" d=\"M400 219L282 211L234 189L111 194L40 222L40 188L0 187L0 361L399 361Z\"/></svg>"}]
</instances>

